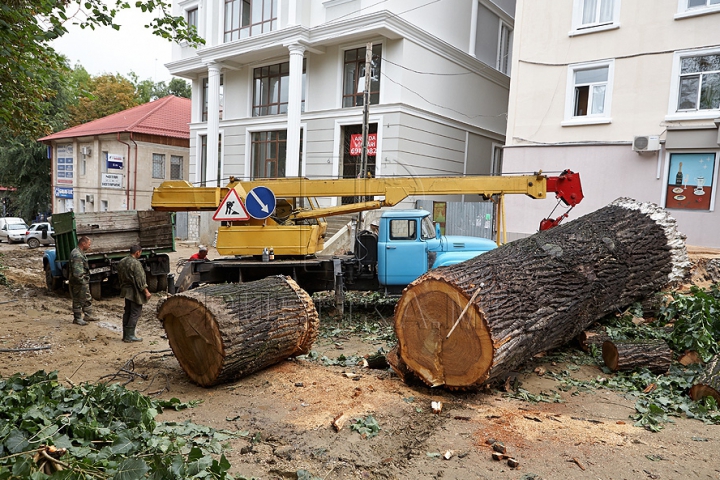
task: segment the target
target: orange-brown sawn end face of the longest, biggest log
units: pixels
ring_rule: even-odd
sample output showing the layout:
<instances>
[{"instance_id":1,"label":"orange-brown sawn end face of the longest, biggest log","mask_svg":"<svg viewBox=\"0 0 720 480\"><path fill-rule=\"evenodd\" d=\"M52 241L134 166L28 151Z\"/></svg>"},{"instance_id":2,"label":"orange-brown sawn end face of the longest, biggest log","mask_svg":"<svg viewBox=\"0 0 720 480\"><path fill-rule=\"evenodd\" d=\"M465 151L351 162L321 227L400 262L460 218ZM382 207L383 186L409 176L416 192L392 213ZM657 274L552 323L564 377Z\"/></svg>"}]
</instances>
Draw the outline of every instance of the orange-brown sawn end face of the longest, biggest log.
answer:
<instances>
[{"instance_id":1,"label":"orange-brown sawn end face of the longest, biggest log","mask_svg":"<svg viewBox=\"0 0 720 480\"><path fill-rule=\"evenodd\" d=\"M458 289L439 280L413 284L395 311L400 356L430 386L466 387L487 378L493 344L477 304L468 304Z\"/></svg>"}]
</instances>

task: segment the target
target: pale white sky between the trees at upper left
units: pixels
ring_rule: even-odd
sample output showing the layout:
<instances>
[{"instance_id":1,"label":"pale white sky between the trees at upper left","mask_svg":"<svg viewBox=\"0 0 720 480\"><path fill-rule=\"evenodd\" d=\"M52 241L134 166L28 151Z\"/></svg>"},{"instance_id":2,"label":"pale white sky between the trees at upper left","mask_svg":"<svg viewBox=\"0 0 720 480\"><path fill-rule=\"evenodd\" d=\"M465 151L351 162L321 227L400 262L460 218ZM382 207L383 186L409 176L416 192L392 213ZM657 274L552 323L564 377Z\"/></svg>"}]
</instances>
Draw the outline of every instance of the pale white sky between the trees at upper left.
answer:
<instances>
[{"instance_id":1,"label":"pale white sky between the trees at upper left","mask_svg":"<svg viewBox=\"0 0 720 480\"><path fill-rule=\"evenodd\" d=\"M68 33L52 46L70 59L72 67L79 62L93 76L120 73L127 77L133 71L140 80L167 83L172 79L165 68L172 44L144 27L151 19L151 14L131 8L118 14L119 31L110 27L83 30L69 23Z\"/></svg>"}]
</instances>

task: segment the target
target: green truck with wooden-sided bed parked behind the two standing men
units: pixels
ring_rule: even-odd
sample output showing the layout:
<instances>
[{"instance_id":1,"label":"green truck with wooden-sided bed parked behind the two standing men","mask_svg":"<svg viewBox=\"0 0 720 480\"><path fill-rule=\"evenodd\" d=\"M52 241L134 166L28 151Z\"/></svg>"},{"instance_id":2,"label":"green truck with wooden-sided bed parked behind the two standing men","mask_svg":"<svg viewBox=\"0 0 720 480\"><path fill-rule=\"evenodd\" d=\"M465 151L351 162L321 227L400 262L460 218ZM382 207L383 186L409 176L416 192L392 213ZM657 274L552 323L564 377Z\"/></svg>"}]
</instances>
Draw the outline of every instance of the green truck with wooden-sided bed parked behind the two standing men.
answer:
<instances>
[{"instance_id":1,"label":"green truck with wooden-sided bed parked behind the two standing men","mask_svg":"<svg viewBox=\"0 0 720 480\"><path fill-rule=\"evenodd\" d=\"M50 291L64 288L69 278L70 252L78 238L92 240L86 252L90 265L90 294L100 300L105 292L119 289L117 263L128 255L130 246L140 244L140 262L145 268L151 292L167 290L170 257L175 251L175 214L154 210L60 213L51 218L55 248L43 254L45 282Z\"/></svg>"}]
</instances>

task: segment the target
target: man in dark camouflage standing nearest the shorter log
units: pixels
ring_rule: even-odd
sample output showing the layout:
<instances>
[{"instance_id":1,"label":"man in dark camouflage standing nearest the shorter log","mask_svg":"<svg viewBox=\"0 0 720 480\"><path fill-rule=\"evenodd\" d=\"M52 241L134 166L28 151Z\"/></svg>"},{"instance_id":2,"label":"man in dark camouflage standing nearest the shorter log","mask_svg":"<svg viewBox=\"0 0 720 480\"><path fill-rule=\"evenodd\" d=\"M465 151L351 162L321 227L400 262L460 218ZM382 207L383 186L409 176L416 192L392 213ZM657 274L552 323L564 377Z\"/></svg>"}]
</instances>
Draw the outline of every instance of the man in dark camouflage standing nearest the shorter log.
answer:
<instances>
[{"instance_id":1,"label":"man in dark camouflage standing nearest the shorter log","mask_svg":"<svg viewBox=\"0 0 720 480\"><path fill-rule=\"evenodd\" d=\"M133 245L130 247L130 255L120 260L117 266L120 295L125 298L123 342L142 342L142 338L135 336L135 328L142 314L142 306L152 296L147 288L145 270L138 260L141 255L140 245Z\"/></svg>"}]
</instances>

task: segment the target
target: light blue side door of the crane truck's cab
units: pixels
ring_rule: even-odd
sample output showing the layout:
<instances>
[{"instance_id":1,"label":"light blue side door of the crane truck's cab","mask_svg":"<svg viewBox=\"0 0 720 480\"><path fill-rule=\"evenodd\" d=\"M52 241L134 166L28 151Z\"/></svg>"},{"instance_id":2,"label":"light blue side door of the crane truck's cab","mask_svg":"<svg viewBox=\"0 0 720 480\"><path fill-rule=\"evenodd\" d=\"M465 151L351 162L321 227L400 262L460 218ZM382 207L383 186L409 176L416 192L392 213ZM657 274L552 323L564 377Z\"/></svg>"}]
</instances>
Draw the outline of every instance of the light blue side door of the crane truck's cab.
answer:
<instances>
[{"instance_id":1,"label":"light blue side door of the crane truck's cab","mask_svg":"<svg viewBox=\"0 0 720 480\"><path fill-rule=\"evenodd\" d=\"M420 239L418 219L388 220L381 226L378 242L380 284L407 285L427 272L427 244Z\"/></svg>"}]
</instances>

